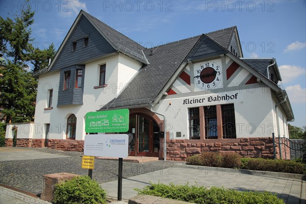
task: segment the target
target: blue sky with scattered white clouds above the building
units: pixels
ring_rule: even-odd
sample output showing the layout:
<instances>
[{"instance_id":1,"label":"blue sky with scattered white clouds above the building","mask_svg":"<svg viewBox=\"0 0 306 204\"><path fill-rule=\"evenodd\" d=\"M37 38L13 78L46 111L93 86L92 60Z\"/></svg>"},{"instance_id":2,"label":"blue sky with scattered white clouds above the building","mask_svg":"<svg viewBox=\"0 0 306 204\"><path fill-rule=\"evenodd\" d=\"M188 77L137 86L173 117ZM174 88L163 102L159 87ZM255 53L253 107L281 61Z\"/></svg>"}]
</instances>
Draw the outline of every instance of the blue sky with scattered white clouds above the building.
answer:
<instances>
[{"instance_id":1,"label":"blue sky with scattered white clouds above the building","mask_svg":"<svg viewBox=\"0 0 306 204\"><path fill-rule=\"evenodd\" d=\"M237 25L245 58L275 58L295 115L306 125L306 1L31 1L32 37L58 48L81 9L147 47ZM24 1L0 2L13 18Z\"/></svg>"}]
</instances>

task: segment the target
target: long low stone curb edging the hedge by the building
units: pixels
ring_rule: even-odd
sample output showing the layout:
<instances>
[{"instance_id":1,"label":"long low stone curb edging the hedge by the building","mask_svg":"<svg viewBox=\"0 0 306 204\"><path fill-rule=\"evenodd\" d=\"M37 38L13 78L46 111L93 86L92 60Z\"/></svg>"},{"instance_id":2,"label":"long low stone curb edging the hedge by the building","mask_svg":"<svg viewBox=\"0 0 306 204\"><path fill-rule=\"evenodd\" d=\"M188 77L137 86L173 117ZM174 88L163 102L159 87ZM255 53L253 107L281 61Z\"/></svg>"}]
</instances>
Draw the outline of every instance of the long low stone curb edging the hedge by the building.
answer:
<instances>
[{"instance_id":1,"label":"long low stone curb edging the hedge by the building","mask_svg":"<svg viewBox=\"0 0 306 204\"><path fill-rule=\"evenodd\" d=\"M247 169L231 169L231 168L220 168L220 167L211 167L211 166L196 166L189 164L173 164L173 168L192 168L192 169L206 170L206 171L250 174L250 175L260 175L260 176L270 176L270 177L283 177L286 179L297 179L297 180L306 181L306 175L295 174L295 173L258 171L258 170L247 170Z\"/></svg>"}]
</instances>

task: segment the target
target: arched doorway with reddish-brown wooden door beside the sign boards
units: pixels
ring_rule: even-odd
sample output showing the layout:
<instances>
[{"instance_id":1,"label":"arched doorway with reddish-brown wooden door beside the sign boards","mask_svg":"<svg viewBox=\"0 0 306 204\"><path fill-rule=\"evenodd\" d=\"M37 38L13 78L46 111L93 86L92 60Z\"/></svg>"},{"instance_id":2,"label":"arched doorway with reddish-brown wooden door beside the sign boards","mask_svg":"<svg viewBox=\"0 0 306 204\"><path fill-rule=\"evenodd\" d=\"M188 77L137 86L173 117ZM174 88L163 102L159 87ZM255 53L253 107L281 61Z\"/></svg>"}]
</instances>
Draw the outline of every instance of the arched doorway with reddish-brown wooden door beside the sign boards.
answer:
<instances>
[{"instance_id":1,"label":"arched doorway with reddish-brown wooden door beside the sign boards","mask_svg":"<svg viewBox=\"0 0 306 204\"><path fill-rule=\"evenodd\" d=\"M150 116L143 113L130 115L129 134L133 134L130 142L130 156L158 157L160 149L160 127Z\"/></svg>"}]
</instances>

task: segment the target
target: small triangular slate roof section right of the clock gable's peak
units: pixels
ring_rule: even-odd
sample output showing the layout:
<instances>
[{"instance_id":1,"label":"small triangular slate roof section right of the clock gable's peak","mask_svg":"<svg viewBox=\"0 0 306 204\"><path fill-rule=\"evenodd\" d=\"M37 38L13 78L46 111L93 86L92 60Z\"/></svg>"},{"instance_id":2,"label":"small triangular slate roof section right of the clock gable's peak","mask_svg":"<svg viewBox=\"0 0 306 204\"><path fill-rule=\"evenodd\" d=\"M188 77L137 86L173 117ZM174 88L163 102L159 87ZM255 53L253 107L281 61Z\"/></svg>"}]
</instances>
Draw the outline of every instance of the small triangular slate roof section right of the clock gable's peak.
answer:
<instances>
[{"instance_id":1,"label":"small triangular slate roof section right of the clock gable's peak","mask_svg":"<svg viewBox=\"0 0 306 204\"><path fill-rule=\"evenodd\" d=\"M228 49L228 47L231 44L231 39L234 35L235 29L236 29L236 26L233 26L233 27L230 27L230 28L221 29L221 30L218 30L218 31L207 33L206 35L208 37L210 37L211 39L215 40L221 46Z\"/></svg>"}]
</instances>

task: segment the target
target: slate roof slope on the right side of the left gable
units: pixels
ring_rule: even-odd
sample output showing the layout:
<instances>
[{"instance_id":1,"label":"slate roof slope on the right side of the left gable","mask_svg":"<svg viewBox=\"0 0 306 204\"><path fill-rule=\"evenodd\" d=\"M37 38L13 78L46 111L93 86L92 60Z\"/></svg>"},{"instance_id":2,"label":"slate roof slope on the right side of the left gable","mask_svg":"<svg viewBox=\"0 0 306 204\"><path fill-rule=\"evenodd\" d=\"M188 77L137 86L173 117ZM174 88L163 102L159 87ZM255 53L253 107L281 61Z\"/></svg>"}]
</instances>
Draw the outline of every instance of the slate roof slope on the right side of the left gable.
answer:
<instances>
[{"instance_id":1,"label":"slate roof slope on the right side of the left gable","mask_svg":"<svg viewBox=\"0 0 306 204\"><path fill-rule=\"evenodd\" d=\"M136 60L138 61L147 64L147 60L141 52L141 50L144 50L145 47L141 46L139 43L126 37L115 29L109 27L109 25L105 24L104 22L100 21L89 13L86 13L85 11L83 12L84 15L96 25L96 28L99 30L99 32L104 34L104 37L106 37L106 39L115 49L132 58L136 58Z\"/></svg>"}]
</instances>

